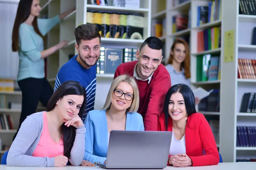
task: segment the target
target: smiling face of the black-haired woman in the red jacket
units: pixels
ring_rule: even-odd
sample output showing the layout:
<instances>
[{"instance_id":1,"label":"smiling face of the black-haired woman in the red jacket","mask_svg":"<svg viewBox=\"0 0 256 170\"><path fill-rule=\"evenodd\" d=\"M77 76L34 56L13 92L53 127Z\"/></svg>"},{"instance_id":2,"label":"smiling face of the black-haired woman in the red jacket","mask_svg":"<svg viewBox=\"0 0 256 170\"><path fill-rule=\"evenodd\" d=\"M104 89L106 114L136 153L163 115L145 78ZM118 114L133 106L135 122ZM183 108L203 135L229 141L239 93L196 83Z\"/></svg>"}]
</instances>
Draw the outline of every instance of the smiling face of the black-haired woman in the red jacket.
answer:
<instances>
[{"instance_id":1,"label":"smiling face of the black-haired woman in the red jacket","mask_svg":"<svg viewBox=\"0 0 256 170\"><path fill-rule=\"evenodd\" d=\"M187 119L184 98L180 92L176 92L170 97L168 113L173 121L185 121Z\"/></svg>"}]
</instances>

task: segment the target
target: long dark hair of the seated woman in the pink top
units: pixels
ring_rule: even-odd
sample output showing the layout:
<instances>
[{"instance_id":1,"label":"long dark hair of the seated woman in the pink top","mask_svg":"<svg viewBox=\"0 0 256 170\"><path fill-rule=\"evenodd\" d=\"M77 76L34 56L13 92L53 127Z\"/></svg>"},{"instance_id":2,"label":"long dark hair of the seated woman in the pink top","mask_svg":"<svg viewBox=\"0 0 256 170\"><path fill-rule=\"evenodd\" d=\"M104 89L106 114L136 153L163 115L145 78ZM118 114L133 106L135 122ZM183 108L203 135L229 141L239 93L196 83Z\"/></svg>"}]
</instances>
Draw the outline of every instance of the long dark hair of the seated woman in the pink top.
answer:
<instances>
[{"instance_id":1,"label":"long dark hair of the seated woman in the pink top","mask_svg":"<svg viewBox=\"0 0 256 170\"><path fill-rule=\"evenodd\" d=\"M47 105L47 111L52 111L55 108L56 102L58 99L62 99L67 95L82 95L84 96L83 104L79 110L79 117L82 118L82 115L85 113L86 109L86 91L79 82L76 81L67 81L62 83L57 90L52 94ZM64 123L61 125L61 138L63 138L64 143L64 156L70 158L70 152L73 147L73 143L76 137L76 127L70 126L67 127Z\"/></svg>"}]
</instances>

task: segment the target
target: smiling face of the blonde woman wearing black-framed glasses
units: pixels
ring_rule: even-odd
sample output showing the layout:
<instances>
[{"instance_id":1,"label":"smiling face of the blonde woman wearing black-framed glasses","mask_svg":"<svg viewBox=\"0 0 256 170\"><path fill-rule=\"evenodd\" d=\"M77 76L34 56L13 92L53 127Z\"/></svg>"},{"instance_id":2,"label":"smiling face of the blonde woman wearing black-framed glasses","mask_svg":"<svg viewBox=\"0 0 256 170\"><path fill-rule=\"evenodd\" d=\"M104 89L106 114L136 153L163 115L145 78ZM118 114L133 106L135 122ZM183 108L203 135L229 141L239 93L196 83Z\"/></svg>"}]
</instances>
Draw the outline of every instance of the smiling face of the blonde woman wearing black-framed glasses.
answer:
<instances>
[{"instance_id":1,"label":"smiling face of the blonde woman wearing black-framed glasses","mask_svg":"<svg viewBox=\"0 0 256 170\"><path fill-rule=\"evenodd\" d=\"M128 93L134 95L133 88L131 85L129 85L127 82L120 82L119 85L116 86L115 89L118 89L119 91L122 91L123 93ZM132 103L133 100L129 101L125 99L125 94L118 97L114 94L112 94L111 99L111 110L115 111L126 111Z\"/></svg>"}]
</instances>

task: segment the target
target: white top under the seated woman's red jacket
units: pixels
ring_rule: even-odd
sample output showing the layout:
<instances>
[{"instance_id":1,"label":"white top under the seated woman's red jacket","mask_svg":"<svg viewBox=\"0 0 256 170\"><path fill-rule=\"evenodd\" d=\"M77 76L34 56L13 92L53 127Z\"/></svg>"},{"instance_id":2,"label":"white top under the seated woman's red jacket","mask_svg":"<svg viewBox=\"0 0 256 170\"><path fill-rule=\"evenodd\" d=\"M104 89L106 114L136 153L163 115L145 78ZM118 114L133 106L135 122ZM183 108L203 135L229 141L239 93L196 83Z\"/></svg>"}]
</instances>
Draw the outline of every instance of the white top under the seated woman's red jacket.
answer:
<instances>
[{"instance_id":1,"label":"white top under the seated woman's red jacket","mask_svg":"<svg viewBox=\"0 0 256 170\"><path fill-rule=\"evenodd\" d=\"M182 137L182 139L177 140L172 129L172 140L169 155L174 156L177 155L178 153L186 153L185 135Z\"/></svg>"}]
</instances>

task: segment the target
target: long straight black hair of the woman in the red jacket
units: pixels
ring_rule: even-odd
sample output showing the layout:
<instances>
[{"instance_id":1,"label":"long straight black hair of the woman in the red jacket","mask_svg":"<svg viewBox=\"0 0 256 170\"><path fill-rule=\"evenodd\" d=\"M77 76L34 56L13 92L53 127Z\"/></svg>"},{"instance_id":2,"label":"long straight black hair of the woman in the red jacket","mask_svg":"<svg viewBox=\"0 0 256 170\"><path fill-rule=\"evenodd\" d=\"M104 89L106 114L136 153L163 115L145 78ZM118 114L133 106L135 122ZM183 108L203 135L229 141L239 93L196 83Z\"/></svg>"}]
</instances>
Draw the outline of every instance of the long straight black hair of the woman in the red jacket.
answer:
<instances>
[{"instance_id":1,"label":"long straight black hair of the woman in the red jacket","mask_svg":"<svg viewBox=\"0 0 256 170\"><path fill-rule=\"evenodd\" d=\"M165 116L165 130L168 129L168 118L169 118L169 101L172 96L172 94L180 92L184 98L185 106L186 106L186 112L188 116L192 115L193 113L196 113L195 109L195 96L191 88L189 88L188 85L185 84L177 84L173 85L169 91L166 94L164 104L163 104L163 112Z\"/></svg>"}]
</instances>

